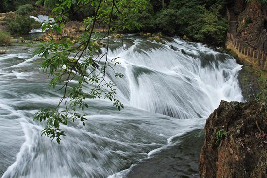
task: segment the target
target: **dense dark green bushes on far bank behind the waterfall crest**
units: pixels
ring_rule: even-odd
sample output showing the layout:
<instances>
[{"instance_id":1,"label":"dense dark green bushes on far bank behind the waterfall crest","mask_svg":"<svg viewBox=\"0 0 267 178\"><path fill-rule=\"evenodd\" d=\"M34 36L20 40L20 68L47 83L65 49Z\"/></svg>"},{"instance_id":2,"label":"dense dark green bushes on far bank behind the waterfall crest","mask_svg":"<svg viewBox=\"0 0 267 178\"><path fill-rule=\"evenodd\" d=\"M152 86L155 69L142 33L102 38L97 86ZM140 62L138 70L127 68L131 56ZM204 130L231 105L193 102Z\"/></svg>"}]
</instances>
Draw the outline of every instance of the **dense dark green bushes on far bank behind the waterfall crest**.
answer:
<instances>
[{"instance_id":1,"label":"dense dark green bushes on far bank behind the waterfall crest","mask_svg":"<svg viewBox=\"0 0 267 178\"><path fill-rule=\"evenodd\" d=\"M223 43L228 21L221 14L224 0L170 0L167 8L153 15L146 11L139 15L141 30L186 35L201 42ZM154 8L149 4L148 9Z\"/></svg>"}]
</instances>

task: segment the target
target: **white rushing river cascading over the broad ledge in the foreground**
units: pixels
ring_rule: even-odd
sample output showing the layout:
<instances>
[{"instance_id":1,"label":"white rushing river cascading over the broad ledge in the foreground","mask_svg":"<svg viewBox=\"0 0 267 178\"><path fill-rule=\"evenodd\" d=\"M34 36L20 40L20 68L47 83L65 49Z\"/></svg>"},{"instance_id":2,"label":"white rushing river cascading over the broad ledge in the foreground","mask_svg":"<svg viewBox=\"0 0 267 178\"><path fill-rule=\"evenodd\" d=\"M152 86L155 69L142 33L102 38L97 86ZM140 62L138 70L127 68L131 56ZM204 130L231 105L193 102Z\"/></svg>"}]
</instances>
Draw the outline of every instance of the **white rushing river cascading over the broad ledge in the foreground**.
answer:
<instances>
[{"instance_id":1,"label":"white rushing river cascading over the broad ledge in the foreground","mask_svg":"<svg viewBox=\"0 0 267 178\"><path fill-rule=\"evenodd\" d=\"M113 43L109 53L110 59L120 57L115 70L125 77L108 75L125 109L87 99L86 125L62 127L67 136L59 145L42 137L44 124L33 121L34 113L56 105L62 94L48 90L50 79L34 55L37 44L31 45L14 44L0 54L2 178L123 178L137 162L181 144L187 148L177 159L187 162L192 158L183 155L190 141L198 141L196 135L220 101L243 100L237 80L241 65L231 56L179 38L163 45L127 35L124 49ZM187 177L197 177L197 170L181 169Z\"/></svg>"}]
</instances>

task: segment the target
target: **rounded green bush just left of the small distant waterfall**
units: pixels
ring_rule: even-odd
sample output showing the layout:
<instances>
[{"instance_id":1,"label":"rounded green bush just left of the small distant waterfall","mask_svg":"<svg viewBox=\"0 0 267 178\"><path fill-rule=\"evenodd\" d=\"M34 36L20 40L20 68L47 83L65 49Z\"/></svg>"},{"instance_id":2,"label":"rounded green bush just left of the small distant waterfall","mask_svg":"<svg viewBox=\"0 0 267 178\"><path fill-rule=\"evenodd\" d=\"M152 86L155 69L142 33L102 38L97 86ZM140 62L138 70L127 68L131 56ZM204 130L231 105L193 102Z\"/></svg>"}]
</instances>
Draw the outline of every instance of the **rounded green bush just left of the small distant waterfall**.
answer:
<instances>
[{"instance_id":1,"label":"rounded green bush just left of the small distant waterfall","mask_svg":"<svg viewBox=\"0 0 267 178\"><path fill-rule=\"evenodd\" d=\"M29 16L15 15L14 20L8 23L7 27L11 34L27 34L31 29L37 29L41 24Z\"/></svg>"}]
</instances>

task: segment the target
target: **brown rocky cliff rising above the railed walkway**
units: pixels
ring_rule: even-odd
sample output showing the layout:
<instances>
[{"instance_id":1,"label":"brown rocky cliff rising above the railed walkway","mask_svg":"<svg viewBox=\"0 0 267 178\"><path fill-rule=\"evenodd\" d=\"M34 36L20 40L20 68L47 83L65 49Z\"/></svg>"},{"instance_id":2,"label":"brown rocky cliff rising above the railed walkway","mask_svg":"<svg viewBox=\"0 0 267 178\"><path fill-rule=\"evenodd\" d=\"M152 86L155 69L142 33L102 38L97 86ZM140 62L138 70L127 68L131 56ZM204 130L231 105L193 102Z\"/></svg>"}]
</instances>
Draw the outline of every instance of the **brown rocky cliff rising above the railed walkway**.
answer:
<instances>
[{"instance_id":1,"label":"brown rocky cliff rising above the railed walkway","mask_svg":"<svg viewBox=\"0 0 267 178\"><path fill-rule=\"evenodd\" d=\"M267 4L258 0L229 0L228 8L237 20L237 38L253 49L267 51Z\"/></svg>"}]
</instances>

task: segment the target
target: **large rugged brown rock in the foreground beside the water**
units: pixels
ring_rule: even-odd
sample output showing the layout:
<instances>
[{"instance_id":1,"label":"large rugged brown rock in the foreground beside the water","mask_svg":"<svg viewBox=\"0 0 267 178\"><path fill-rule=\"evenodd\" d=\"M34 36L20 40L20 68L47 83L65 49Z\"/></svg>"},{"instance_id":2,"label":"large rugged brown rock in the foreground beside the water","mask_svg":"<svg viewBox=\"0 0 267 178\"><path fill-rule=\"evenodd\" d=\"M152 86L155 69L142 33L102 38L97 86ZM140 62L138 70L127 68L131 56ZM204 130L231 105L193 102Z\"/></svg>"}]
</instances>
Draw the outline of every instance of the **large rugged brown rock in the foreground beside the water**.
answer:
<instances>
[{"instance_id":1,"label":"large rugged brown rock in the foreground beside the water","mask_svg":"<svg viewBox=\"0 0 267 178\"><path fill-rule=\"evenodd\" d=\"M267 136L256 122L266 133L267 103L222 101L206 121L200 178L267 178Z\"/></svg>"}]
</instances>

